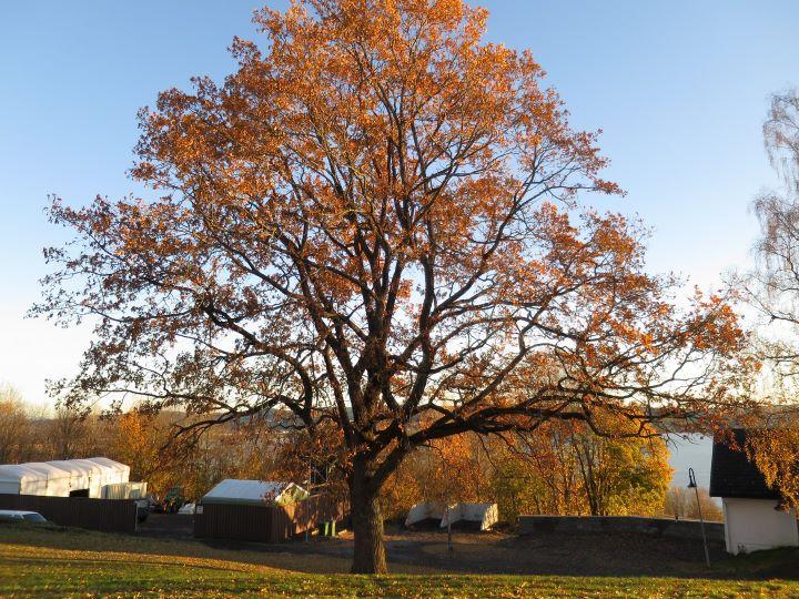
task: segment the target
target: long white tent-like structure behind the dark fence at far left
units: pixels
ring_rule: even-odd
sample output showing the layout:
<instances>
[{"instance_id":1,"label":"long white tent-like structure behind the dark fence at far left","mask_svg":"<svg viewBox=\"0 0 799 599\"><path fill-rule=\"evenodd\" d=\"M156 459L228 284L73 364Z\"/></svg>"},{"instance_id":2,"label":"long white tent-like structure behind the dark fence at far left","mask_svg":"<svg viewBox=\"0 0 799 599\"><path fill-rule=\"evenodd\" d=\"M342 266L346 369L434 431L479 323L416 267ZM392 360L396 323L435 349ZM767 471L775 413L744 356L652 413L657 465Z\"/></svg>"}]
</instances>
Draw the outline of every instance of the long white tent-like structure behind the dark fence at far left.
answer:
<instances>
[{"instance_id":1,"label":"long white tent-like structure behind the dark fence at far left","mask_svg":"<svg viewBox=\"0 0 799 599\"><path fill-rule=\"evenodd\" d=\"M0 465L0 494L108 497L109 486L128 484L130 466L105 457Z\"/></svg>"}]
</instances>

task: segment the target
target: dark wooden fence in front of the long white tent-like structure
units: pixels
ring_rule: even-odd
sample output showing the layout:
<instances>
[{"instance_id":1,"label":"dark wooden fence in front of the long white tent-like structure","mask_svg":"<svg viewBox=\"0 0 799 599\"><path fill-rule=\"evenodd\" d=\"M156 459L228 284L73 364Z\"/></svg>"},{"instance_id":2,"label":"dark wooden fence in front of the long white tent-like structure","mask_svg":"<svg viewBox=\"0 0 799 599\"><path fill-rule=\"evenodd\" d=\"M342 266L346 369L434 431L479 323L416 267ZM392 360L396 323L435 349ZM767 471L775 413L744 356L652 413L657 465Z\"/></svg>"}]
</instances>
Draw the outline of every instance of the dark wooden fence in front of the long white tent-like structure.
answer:
<instances>
[{"instance_id":1,"label":"dark wooden fence in front of the long white tent-like structure","mask_svg":"<svg viewBox=\"0 0 799 599\"><path fill-rule=\"evenodd\" d=\"M136 505L129 499L0 494L0 509L38 511L60 526L104 532L135 532Z\"/></svg>"}]
</instances>

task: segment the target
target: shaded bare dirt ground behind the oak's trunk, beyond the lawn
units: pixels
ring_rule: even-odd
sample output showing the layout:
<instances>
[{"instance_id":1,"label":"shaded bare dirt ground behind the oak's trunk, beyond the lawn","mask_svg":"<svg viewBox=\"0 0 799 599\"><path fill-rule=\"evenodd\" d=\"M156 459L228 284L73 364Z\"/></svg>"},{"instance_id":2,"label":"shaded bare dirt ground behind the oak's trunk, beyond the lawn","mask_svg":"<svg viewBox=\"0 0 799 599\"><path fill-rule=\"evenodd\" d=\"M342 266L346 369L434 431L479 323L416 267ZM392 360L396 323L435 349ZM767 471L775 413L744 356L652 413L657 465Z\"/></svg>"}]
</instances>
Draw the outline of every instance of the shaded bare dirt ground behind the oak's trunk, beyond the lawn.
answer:
<instances>
[{"instance_id":1,"label":"shaded bare dirt ground behind the oak's trunk, beyond the lawn","mask_svg":"<svg viewBox=\"0 0 799 599\"><path fill-rule=\"evenodd\" d=\"M318 554L348 560L352 534L344 531L335 539L260 547L270 552ZM393 529L387 531L386 549L395 571L799 579L799 550L735 558L725 552L724 544L716 541L710 544L712 565L708 570L701 541L643 534L517 536L458 531L453 535L449 550L443 532Z\"/></svg>"}]
</instances>

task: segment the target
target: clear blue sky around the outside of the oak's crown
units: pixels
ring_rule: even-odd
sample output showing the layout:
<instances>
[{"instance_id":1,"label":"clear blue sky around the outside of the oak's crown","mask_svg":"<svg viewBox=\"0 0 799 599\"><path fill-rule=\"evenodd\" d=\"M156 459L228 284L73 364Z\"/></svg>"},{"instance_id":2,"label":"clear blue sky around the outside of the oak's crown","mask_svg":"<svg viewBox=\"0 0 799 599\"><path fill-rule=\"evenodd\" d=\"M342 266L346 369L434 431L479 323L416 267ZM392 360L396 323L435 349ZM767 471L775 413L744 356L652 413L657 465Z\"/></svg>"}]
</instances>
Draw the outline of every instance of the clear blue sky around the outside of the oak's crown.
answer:
<instances>
[{"instance_id":1,"label":"clear blue sky around the outside of the oak's crown","mask_svg":"<svg viewBox=\"0 0 799 599\"><path fill-rule=\"evenodd\" d=\"M771 92L799 85L799 2L486 0L488 34L530 48L576 125L605 130L606 206L654 229L650 270L701 286L746 265L748 206L777 181L760 126ZM282 8L283 1L271 6ZM24 321L62 241L42 207L135 191L135 111L193 74L221 78L254 0L0 2L0 382L43 400L85 332Z\"/></svg>"}]
</instances>

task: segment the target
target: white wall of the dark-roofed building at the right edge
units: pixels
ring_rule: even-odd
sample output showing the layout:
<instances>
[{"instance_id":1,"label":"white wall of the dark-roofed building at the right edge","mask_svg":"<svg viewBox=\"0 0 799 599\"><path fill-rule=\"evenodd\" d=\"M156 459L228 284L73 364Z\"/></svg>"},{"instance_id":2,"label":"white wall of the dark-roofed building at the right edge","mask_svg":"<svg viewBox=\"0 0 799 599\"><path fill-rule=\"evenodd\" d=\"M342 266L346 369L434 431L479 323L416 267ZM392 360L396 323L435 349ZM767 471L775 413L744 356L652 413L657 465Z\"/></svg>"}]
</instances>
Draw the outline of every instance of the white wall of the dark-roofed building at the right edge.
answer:
<instances>
[{"instance_id":1,"label":"white wall of the dark-roofed building at the right edge","mask_svg":"<svg viewBox=\"0 0 799 599\"><path fill-rule=\"evenodd\" d=\"M775 509L772 499L722 499L727 551L741 554L799 546L795 510Z\"/></svg>"}]
</instances>

